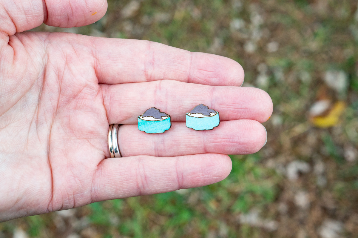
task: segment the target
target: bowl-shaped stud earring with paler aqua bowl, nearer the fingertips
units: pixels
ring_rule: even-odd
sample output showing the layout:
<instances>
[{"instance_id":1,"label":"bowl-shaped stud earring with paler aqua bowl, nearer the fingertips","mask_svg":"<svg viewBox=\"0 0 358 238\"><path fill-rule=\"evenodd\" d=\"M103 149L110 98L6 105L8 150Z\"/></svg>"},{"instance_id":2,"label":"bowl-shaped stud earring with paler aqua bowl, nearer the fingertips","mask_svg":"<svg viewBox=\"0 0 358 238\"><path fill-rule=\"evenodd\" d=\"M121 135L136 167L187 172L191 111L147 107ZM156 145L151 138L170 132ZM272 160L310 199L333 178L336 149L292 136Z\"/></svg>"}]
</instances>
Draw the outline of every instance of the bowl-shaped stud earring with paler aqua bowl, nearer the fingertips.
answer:
<instances>
[{"instance_id":1,"label":"bowl-shaped stud earring with paler aqua bowl, nearer the fingertips","mask_svg":"<svg viewBox=\"0 0 358 238\"><path fill-rule=\"evenodd\" d=\"M220 124L219 113L204 104L195 106L185 118L187 127L194 130L212 130Z\"/></svg>"}]
</instances>

